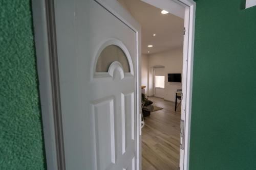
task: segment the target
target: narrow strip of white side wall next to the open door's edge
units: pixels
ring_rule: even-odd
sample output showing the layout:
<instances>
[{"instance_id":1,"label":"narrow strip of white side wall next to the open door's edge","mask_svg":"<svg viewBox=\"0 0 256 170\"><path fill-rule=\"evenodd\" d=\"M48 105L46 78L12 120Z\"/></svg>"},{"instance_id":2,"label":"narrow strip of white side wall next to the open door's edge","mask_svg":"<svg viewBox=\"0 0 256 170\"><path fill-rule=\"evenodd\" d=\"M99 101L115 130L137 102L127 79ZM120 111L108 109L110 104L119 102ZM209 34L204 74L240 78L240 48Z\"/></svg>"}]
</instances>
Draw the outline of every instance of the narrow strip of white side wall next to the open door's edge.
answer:
<instances>
[{"instance_id":1,"label":"narrow strip of white side wall next to the open door's edge","mask_svg":"<svg viewBox=\"0 0 256 170\"><path fill-rule=\"evenodd\" d=\"M145 93L148 94L148 56L141 55L141 85L146 86Z\"/></svg>"}]
</instances>

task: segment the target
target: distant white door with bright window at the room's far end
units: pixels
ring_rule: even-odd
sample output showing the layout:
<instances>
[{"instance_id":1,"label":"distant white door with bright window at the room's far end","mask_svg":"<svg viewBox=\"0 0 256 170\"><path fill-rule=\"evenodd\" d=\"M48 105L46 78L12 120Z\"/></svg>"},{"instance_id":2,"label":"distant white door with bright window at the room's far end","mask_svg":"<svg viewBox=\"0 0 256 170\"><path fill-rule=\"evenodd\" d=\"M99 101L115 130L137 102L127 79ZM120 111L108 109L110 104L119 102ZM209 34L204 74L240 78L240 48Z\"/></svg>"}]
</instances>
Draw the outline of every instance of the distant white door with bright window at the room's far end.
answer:
<instances>
[{"instance_id":1,"label":"distant white door with bright window at the room's far end","mask_svg":"<svg viewBox=\"0 0 256 170\"><path fill-rule=\"evenodd\" d=\"M165 76L164 67L154 68L154 86L155 86L155 96L157 98L164 98L165 95Z\"/></svg>"}]
</instances>

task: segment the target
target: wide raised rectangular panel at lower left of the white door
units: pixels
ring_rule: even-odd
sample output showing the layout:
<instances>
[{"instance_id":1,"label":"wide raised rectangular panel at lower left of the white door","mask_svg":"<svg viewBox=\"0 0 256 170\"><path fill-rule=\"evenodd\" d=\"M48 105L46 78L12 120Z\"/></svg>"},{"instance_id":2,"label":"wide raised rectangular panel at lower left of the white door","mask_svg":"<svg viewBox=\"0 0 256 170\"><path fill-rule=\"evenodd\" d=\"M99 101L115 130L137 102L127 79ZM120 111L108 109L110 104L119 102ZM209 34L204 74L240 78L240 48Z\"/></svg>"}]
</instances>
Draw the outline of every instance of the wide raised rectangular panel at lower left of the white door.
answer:
<instances>
[{"instance_id":1,"label":"wide raised rectangular panel at lower left of the white door","mask_svg":"<svg viewBox=\"0 0 256 170\"><path fill-rule=\"evenodd\" d=\"M108 169L116 162L114 99L101 99L93 103L93 118L95 169Z\"/></svg>"}]
</instances>

